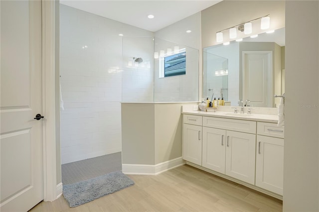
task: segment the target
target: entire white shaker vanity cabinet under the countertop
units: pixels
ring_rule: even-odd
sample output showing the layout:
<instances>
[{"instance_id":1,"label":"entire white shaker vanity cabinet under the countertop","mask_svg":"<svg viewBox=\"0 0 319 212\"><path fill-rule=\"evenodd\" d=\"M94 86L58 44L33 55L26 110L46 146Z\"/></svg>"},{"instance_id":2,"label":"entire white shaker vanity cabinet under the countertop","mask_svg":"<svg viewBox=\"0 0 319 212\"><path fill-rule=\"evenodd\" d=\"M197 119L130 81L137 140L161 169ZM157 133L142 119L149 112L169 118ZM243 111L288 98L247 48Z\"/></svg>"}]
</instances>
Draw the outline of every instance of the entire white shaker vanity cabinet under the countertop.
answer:
<instances>
[{"instance_id":1,"label":"entire white shaker vanity cabinet under the countertop","mask_svg":"<svg viewBox=\"0 0 319 212\"><path fill-rule=\"evenodd\" d=\"M189 165L282 199L284 128L270 118L274 117L183 114L183 159Z\"/></svg>"}]
</instances>

